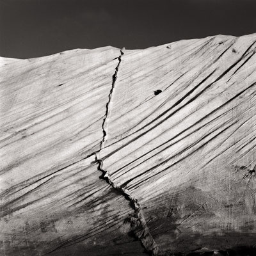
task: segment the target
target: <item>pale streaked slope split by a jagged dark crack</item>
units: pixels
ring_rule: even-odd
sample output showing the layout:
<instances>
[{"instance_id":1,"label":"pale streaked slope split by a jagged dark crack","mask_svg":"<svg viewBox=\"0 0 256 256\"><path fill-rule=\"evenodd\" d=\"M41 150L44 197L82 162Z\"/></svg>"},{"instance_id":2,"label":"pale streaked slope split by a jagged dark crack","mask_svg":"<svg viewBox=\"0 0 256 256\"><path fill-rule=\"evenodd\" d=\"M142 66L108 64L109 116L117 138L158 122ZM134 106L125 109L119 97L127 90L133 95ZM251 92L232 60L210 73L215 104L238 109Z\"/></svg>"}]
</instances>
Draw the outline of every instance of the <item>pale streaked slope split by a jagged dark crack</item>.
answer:
<instances>
[{"instance_id":1,"label":"pale streaked slope split by a jagged dark crack","mask_svg":"<svg viewBox=\"0 0 256 256\"><path fill-rule=\"evenodd\" d=\"M0 255L256 255L256 34L0 59Z\"/></svg>"}]
</instances>

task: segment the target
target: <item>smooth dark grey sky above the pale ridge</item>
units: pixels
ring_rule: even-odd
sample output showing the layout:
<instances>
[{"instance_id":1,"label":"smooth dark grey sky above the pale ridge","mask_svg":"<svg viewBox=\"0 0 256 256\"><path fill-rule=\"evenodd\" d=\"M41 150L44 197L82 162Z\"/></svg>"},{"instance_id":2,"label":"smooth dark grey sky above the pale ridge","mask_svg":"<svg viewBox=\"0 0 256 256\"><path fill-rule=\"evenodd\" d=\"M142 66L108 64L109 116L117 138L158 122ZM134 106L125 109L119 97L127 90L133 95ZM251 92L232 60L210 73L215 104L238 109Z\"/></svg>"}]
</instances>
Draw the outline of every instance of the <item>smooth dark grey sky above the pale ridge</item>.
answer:
<instances>
[{"instance_id":1,"label":"smooth dark grey sky above the pale ridge","mask_svg":"<svg viewBox=\"0 0 256 256\"><path fill-rule=\"evenodd\" d=\"M256 32L256 0L0 0L0 56Z\"/></svg>"}]
</instances>

